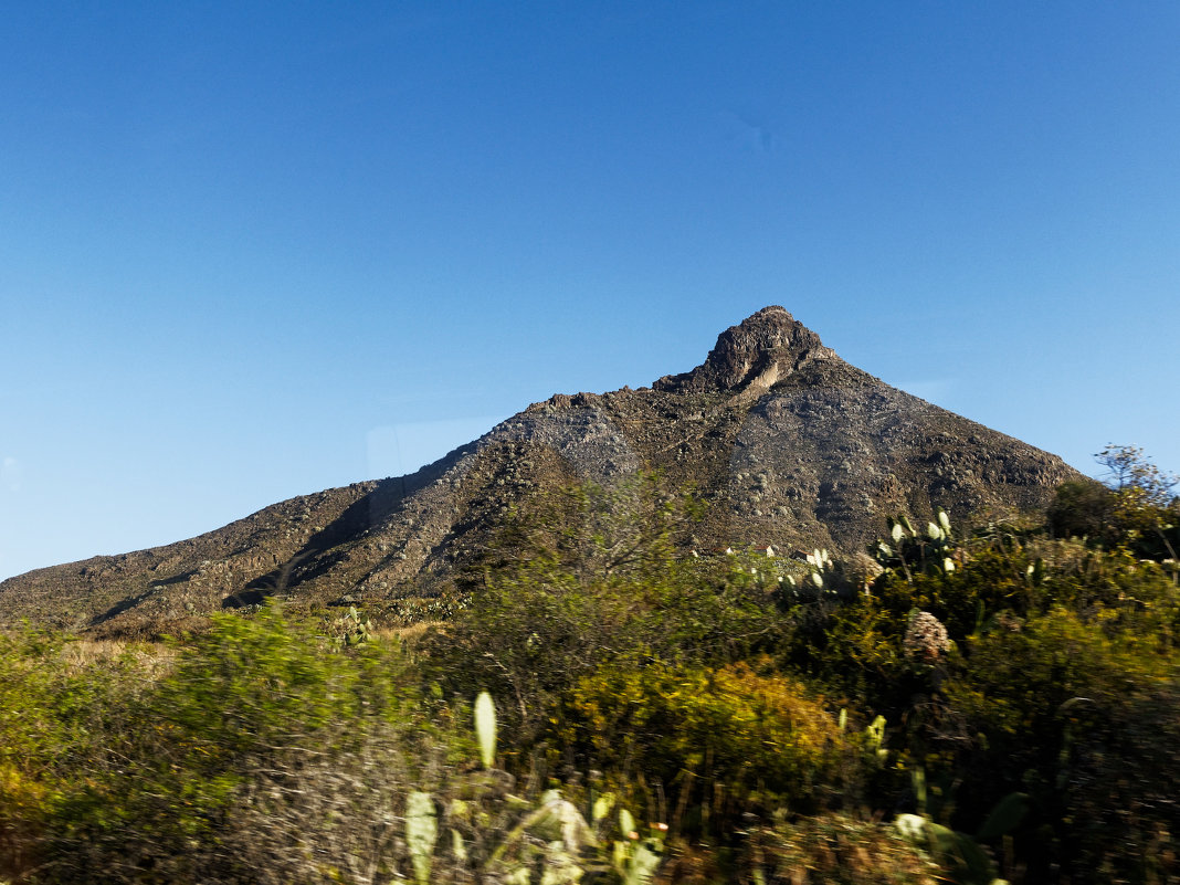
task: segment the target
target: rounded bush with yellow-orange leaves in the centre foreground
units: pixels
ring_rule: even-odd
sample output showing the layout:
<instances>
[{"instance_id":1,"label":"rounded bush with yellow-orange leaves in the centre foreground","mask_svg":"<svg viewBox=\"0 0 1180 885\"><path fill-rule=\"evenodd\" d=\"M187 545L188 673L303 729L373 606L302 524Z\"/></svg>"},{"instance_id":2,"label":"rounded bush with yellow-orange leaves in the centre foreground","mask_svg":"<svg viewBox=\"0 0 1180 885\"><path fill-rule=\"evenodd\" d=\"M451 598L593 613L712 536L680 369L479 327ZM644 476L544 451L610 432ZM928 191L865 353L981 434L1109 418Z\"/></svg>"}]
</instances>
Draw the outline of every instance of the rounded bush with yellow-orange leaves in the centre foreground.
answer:
<instances>
[{"instance_id":1,"label":"rounded bush with yellow-orange leaves in the centre foreground","mask_svg":"<svg viewBox=\"0 0 1180 885\"><path fill-rule=\"evenodd\" d=\"M814 806L839 788L835 719L796 681L745 663L610 664L579 681L568 714L572 742L621 785L678 796L674 831L686 813L696 818L689 828L707 828L712 815L723 832L752 806Z\"/></svg>"}]
</instances>

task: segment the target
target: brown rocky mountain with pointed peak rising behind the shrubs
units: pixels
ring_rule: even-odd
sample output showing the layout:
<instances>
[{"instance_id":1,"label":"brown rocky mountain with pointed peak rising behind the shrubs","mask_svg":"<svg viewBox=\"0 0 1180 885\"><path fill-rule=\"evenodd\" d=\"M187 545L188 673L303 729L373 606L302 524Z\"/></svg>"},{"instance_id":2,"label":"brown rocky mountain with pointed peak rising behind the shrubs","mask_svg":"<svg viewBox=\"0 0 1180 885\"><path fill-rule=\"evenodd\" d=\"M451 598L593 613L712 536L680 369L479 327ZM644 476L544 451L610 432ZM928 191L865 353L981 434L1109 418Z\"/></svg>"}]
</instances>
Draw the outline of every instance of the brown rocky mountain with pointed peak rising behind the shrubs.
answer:
<instances>
[{"instance_id":1,"label":"brown rocky mountain with pointed peak rising behind the shrubs","mask_svg":"<svg viewBox=\"0 0 1180 885\"><path fill-rule=\"evenodd\" d=\"M1076 471L841 360L781 307L651 387L559 394L407 477L266 507L168 546L0 583L0 620L97 635L183 628L266 596L387 604L438 594L510 509L658 471L708 503L700 546L851 553L885 517L1043 509Z\"/></svg>"}]
</instances>

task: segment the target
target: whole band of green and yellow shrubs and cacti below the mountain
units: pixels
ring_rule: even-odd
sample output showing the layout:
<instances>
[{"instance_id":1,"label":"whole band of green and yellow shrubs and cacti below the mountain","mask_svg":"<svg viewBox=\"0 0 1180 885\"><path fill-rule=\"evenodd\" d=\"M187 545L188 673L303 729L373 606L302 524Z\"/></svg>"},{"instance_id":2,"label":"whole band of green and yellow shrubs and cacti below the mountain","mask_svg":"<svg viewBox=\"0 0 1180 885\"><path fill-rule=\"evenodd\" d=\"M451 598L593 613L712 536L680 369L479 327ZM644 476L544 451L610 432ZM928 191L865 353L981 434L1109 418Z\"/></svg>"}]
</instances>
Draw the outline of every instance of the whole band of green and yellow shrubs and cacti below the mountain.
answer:
<instances>
[{"instance_id":1,"label":"whole band of green and yellow shrubs and cacti below the mountain","mask_svg":"<svg viewBox=\"0 0 1180 885\"><path fill-rule=\"evenodd\" d=\"M1180 507L1149 479L1067 484L1048 526L902 517L846 562L677 556L690 496L577 489L446 622L11 631L0 874L1178 881Z\"/></svg>"}]
</instances>

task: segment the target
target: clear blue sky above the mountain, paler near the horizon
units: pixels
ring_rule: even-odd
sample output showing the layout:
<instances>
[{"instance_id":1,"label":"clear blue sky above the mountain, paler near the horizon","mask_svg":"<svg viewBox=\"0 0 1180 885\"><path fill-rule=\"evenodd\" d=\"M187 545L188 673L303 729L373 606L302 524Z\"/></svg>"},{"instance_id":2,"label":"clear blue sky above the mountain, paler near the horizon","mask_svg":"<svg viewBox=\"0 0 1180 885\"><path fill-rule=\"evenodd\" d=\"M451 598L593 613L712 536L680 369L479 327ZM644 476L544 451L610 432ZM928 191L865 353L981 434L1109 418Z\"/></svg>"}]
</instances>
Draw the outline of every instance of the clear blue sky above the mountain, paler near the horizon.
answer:
<instances>
[{"instance_id":1,"label":"clear blue sky above the mountain, paler near the horizon","mask_svg":"<svg viewBox=\"0 0 1180 885\"><path fill-rule=\"evenodd\" d=\"M409 472L780 303L1180 470L1180 5L15 2L0 577Z\"/></svg>"}]
</instances>

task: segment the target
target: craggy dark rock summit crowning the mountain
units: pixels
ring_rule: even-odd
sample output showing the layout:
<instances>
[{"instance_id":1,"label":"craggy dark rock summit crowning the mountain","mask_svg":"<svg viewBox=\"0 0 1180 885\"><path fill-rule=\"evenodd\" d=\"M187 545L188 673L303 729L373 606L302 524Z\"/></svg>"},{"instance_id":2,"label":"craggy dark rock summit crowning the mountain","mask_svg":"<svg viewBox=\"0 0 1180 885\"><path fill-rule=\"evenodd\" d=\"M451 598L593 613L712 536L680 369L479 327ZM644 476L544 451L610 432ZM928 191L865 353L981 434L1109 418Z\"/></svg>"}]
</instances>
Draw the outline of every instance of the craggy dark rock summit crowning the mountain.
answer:
<instances>
[{"instance_id":1,"label":"craggy dark rock summit crowning the mountain","mask_svg":"<svg viewBox=\"0 0 1180 885\"><path fill-rule=\"evenodd\" d=\"M841 362L819 335L772 304L722 332L702 365L664 376L654 387L676 393L769 389L815 361Z\"/></svg>"}]
</instances>

